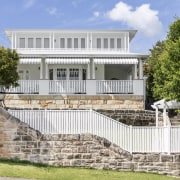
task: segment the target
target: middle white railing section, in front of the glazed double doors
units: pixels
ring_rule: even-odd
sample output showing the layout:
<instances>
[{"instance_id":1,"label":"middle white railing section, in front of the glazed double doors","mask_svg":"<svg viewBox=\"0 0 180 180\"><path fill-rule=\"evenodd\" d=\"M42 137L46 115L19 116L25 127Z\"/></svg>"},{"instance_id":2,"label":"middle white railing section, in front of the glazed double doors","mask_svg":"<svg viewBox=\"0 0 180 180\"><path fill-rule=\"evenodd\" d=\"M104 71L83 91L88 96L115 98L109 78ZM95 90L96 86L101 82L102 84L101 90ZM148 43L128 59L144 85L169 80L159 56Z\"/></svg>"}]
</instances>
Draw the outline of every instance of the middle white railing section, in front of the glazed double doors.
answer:
<instances>
[{"instance_id":1,"label":"middle white railing section, in front of the glazed double doors","mask_svg":"<svg viewBox=\"0 0 180 180\"><path fill-rule=\"evenodd\" d=\"M50 80L49 81L50 94L85 94L86 81L85 80Z\"/></svg>"}]
</instances>

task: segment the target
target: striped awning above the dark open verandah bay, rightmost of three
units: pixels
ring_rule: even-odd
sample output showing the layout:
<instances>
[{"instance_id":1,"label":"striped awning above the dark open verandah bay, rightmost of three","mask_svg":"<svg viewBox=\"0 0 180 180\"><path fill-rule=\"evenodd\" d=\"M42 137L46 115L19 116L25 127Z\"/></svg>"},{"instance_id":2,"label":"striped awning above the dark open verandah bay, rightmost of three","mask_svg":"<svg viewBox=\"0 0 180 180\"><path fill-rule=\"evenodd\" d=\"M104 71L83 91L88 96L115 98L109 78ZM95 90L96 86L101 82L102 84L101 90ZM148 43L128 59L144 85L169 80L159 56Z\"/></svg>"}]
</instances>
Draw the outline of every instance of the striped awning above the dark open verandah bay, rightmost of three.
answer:
<instances>
[{"instance_id":1,"label":"striped awning above the dark open verandah bay, rightmost of three","mask_svg":"<svg viewBox=\"0 0 180 180\"><path fill-rule=\"evenodd\" d=\"M137 58L95 58L95 64L137 64Z\"/></svg>"}]
</instances>

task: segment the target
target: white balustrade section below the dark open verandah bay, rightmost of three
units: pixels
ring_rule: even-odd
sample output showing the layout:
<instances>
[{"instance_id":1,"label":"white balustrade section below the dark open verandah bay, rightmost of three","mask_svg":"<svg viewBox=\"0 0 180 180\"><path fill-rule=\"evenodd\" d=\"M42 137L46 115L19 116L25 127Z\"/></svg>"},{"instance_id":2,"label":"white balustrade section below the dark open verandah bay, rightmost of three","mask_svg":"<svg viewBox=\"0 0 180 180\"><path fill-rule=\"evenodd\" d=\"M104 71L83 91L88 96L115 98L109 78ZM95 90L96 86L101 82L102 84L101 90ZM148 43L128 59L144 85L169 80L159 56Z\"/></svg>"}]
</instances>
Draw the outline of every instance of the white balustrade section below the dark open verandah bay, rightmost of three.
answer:
<instances>
[{"instance_id":1,"label":"white balustrade section below the dark open verandah bay, rightmost of three","mask_svg":"<svg viewBox=\"0 0 180 180\"><path fill-rule=\"evenodd\" d=\"M101 80L96 82L97 94L131 94L132 80Z\"/></svg>"}]
</instances>

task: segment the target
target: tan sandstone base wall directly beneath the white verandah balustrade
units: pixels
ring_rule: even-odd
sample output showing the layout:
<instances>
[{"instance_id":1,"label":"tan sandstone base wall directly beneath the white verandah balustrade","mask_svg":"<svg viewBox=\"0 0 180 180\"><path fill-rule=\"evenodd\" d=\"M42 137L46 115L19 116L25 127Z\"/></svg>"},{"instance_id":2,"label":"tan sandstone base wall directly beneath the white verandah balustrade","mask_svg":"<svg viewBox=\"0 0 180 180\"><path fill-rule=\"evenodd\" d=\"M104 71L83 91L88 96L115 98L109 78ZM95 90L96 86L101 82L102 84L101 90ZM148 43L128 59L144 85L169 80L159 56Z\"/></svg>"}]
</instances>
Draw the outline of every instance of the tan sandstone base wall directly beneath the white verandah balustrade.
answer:
<instances>
[{"instance_id":1,"label":"tan sandstone base wall directly beneath the white verandah balustrade","mask_svg":"<svg viewBox=\"0 0 180 180\"><path fill-rule=\"evenodd\" d=\"M7 94L9 108L144 109L143 96L133 95L15 95Z\"/></svg>"}]
</instances>

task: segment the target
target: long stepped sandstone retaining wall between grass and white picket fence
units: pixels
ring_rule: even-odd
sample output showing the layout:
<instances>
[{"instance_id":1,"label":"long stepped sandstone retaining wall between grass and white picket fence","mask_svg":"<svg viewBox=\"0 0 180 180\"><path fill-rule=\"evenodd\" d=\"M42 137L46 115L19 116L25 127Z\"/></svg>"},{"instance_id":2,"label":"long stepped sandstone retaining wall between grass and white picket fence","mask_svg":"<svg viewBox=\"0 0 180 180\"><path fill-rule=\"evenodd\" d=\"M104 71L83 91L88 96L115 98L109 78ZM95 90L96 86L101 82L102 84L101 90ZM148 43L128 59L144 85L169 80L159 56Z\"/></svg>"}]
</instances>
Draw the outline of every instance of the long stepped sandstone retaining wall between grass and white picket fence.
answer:
<instances>
[{"instance_id":1,"label":"long stepped sandstone retaining wall between grass and white picket fence","mask_svg":"<svg viewBox=\"0 0 180 180\"><path fill-rule=\"evenodd\" d=\"M0 157L180 177L180 154L130 154L92 134L42 135L0 108Z\"/></svg>"}]
</instances>

